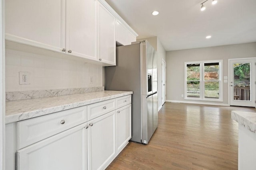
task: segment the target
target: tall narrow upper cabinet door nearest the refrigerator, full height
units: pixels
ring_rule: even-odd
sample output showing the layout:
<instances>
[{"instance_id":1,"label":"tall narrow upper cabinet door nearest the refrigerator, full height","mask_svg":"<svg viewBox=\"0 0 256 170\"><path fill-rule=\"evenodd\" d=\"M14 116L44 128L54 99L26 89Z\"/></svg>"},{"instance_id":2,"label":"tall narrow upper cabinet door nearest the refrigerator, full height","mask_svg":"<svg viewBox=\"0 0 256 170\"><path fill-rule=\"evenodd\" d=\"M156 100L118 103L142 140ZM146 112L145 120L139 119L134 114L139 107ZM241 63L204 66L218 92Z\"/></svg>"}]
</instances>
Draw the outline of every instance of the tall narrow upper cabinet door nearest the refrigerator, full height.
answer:
<instances>
[{"instance_id":1,"label":"tall narrow upper cabinet door nearest the refrigerator, full height","mask_svg":"<svg viewBox=\"0 0 256 170\"><path fill-rule=\"evenodd\" d=\"M98 58L116 65L116 18L100 3L98 10Z\"/></svg>"}]
</instances>

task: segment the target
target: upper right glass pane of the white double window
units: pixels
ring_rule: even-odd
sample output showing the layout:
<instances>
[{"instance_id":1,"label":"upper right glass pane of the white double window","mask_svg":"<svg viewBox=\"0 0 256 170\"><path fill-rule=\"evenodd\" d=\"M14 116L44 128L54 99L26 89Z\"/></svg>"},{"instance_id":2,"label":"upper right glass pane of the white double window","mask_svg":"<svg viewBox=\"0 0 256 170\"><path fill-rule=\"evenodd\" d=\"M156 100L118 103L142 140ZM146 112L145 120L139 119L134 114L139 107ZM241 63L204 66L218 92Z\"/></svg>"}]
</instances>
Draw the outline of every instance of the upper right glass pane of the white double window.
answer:
<instances>
[{"instance_id":1,"label":"upper right glass pane of the white double window","mask_svg":"<svg viewBox=\"0 0 256 170\"><path fill-rule=\"evenodd\" d=\"M219 63L204 63L204 80L219 80Z\"/></svg>"}]
</instances>

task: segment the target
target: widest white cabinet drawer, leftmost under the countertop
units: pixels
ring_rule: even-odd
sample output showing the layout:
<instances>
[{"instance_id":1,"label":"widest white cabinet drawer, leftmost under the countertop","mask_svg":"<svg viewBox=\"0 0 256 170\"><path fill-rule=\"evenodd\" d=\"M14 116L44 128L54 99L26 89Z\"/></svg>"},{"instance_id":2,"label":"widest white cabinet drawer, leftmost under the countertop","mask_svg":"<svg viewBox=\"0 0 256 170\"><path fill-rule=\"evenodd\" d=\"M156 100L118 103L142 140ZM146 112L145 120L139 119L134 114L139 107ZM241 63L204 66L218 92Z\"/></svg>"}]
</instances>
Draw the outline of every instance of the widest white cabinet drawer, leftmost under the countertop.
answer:
<instances>
[{"instance_id":1,"label":"widest white cabinet drawer, leftmost under the countertop","mask_svg":"<svg viewBox=\"0 0 256 170\"><path fill-rule=\"evenodd\" d=\"M86 121L87 106L20 121L17 124L17 147L22 149Z\"/></svg>"}]
</instances>

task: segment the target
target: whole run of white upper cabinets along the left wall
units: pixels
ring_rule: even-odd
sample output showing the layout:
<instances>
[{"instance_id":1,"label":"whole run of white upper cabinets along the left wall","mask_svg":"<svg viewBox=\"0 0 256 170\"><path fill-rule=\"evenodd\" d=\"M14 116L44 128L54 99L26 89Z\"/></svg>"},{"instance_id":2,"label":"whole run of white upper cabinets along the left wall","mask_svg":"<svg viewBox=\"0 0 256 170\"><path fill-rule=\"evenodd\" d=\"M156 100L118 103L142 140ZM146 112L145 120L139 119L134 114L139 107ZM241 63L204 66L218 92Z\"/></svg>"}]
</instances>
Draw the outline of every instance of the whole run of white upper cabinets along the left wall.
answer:
<instances>
[{"instance_id":1,"label":"whole run of white upper cabinets along the left wall","mask_svg":"<svg viewBox=\"0 0 256 170\"><path fill-rule=\"evenodd\" d=\"M137 34L105 0L6 0L6 40L116 65ZM70 56L71 57L71 56Z\"/></svg>"}]
</instances>

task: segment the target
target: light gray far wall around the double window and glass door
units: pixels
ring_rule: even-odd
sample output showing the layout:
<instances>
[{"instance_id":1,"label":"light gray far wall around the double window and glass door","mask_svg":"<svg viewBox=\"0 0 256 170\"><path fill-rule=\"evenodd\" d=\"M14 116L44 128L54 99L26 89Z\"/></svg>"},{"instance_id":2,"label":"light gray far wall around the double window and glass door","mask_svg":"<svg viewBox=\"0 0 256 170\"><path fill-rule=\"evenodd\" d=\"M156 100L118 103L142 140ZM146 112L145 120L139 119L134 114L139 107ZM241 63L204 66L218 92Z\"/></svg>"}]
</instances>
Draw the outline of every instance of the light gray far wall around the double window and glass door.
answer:
<instances>
[{"instance_id":1,"label":"light gray far wall around the double window and glass door","mask_svg":"<svg viewBox=\"0 0 256 170\"><path fill-rule=\"evenodd\" d=\"M223 80L223 76L229 76L228 59L248 57L256 57L256 42L166 52L166 100L205 102L181 97L184 94L184 62L223 60ZM206 103L228 104L228 83L223 83L223 102Z\"/></svg>"}]
</instances>

